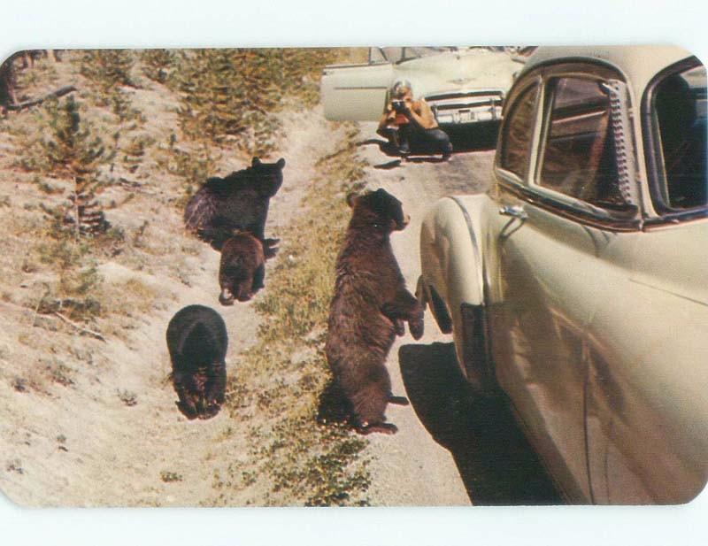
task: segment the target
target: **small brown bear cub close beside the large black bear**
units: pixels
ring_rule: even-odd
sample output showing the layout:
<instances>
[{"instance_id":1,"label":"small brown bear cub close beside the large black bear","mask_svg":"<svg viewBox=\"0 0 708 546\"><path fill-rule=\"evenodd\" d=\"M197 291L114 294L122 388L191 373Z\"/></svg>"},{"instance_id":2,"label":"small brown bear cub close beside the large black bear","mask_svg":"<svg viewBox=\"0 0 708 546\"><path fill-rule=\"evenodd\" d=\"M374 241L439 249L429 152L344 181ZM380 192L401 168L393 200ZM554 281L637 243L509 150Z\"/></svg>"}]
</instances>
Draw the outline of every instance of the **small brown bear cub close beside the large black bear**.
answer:
<instances>
[{"instance_id":1,"label":"small brown bear cub close beside the large black bear","mask_svg":"<svg viewBox=\"0 0 708 546\"><path fill-rule=\"evenodd\" d=\"M234 299L247 302L263 288L266 256L263 243L248 232L233 235L221 247L219 303L233 305Z\"/></svg>"}]
</instances>

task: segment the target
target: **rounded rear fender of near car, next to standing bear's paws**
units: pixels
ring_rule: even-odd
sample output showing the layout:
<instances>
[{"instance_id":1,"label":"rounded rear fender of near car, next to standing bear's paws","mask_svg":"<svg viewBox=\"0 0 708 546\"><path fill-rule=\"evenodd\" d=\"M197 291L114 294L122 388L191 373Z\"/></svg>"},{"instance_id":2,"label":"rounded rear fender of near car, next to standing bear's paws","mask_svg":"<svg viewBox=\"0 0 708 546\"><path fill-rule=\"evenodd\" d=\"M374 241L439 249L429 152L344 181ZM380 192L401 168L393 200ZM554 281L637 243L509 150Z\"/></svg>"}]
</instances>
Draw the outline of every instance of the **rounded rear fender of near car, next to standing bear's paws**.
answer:
<instances>
[{"instance_id":1,"label":"rounded rear fender of near car, next to standing bear's paws","mask_svg":"<svg viewBox=\"0 0 708 546\"><path fill-rule=\"evenodd\" d=\"M489 197L449 196L427 212L420 231L419 295L445 332L445 313L458 364L473 386L492 387L484 313L484 211ZM443 307L441 308L441 304ZM470 343L473 343L471 345Z\"/></svg>"}]
</instances>

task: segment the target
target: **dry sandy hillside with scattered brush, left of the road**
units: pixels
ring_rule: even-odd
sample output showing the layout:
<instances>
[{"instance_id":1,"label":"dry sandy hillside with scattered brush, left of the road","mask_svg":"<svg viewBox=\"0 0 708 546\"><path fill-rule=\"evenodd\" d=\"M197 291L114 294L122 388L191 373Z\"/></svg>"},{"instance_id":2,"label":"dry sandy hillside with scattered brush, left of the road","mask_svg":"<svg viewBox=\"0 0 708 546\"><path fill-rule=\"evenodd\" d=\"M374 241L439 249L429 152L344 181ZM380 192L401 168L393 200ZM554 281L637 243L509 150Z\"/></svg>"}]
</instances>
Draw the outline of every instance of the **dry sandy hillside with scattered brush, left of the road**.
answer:
<instances>
[{"instance_id":1,"label":"dry sandy hillside with scattered brush, left of the road","mask_svg":"<svg viewBox=\"0 0 708 546\"><path fill-rule=\"evenodd\" d=\"M200 135L196 124L204 118L196 104L217 100L223 82L203 79L197 82L202 88L188 88L175 73L192 74L209 63L223 67L227 56L124 53L72 51L58 63L37 60L34 68L19 70L20 100L60 85L78 91L0 121L4 492L21 504L39 505L366 502L359 495L366 473L355 457L364 442L338 427L319 427L309 414L327 381L326 365L313 356L319 354L321 324L302 343L286 340L282 328L279 339L268 342L263 336L273 334L259 332L264 315L276 320L289 312L274 306L299 303L277 296L287 283L301 271L312 275L305 263L312 257L298 263L307 250L291 234L307 235L308 228L331 219L291 231L312 207L301 204L304 197L337 197L347 183L357 182L356 172L333 182L332 172L356 170L350 152L316 165L338 146L348 150L356 134L327 123L317 110L317 81L308 78L332 56L319 52L307 73L292 74L302 84L295 91L287 78L280 89L270 86L269 100L282 95L272 104L276 115L257 119L265 127L259 134L230 134L234 119L227 112ZM253 59L232 60L248 65ZM52 168L46 144L68 100L78 104L81 127L104 148L96 199L111 226L105 233L77 235L63 222L73 180L66 170ZM181 208L208 175L238 170L253 153L288 161L267 226L283 240L281 256L269 262L262 295L219 308L219 254L184 231ZM340 202L337 220L344 222ZM285 282L279 268L287 270ZM319 274L327 279L324 270ZM322 282L315 318L320 322L329 284ZM219 308L230 335L227 407L209 421L184 419L168 380L165 327L175 311L192 303ZM244 354L249 348L250 355ZM258 368L259 351L274 349L282 354L267 358L270 369ZM278 380L269 381L273 367L290 362L296 369L281 369ZM285 392L293 385L297 392ZM306 401L304 394L310 396ZM275 407L292 407L297 399L304 424L295 413L281 419ZM317 450L281 449L274 445L279 431L299 434ZM265 450L272 455L264 458ZM304 488L312 465L324 465L331 475L325 485ZM344 483L350 479L361 487ZM344 488L349 491L342 493Z\"/></svg>"}]
</instances>

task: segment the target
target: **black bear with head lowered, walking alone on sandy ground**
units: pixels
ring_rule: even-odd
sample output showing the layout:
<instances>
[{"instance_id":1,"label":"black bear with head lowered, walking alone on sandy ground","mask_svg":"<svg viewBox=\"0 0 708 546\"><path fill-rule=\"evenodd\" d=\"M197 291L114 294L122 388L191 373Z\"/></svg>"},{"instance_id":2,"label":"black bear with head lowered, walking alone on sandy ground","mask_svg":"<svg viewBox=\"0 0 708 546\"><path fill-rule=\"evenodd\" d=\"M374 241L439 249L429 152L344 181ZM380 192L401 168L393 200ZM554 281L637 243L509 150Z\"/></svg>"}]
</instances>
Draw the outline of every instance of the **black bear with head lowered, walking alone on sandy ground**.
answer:
<instances>
[{"instance_id":1,"label":"black bear with head lowered, walking alone on sandy ground","mask_svg":"<svg viewBox=\"0 0 708 546\"><path fill-rule=\"evenodd\" d=\"M227 327L217 311L189 305L167 326L172 381L187 419L209 419L219 413L227 384Z\"/></svg>"}]
</instances>

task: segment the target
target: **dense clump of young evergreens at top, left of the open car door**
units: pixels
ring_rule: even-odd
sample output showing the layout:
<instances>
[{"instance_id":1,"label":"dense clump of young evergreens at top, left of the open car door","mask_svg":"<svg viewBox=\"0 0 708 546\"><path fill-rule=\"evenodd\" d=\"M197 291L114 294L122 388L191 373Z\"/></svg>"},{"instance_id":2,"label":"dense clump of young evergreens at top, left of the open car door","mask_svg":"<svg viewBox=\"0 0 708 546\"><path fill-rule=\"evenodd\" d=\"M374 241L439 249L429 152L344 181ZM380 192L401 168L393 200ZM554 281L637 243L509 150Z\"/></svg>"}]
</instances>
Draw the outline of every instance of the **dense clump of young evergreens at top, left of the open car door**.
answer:
<instances>
[{"instance_id":1,"label":"dense clump of young evergreens at top, left of the open car door","mask_svg":"<svg viewBox=\"0 0 708 546\"><path fill-rule=\"evenodd\" d=\"M250 155L275 146L277 113L319 100L319 72L335 60L326 49L196 50L182 53L176 72L180 123L192 139L233 141Z\"/></svg>"}]
</instances>

